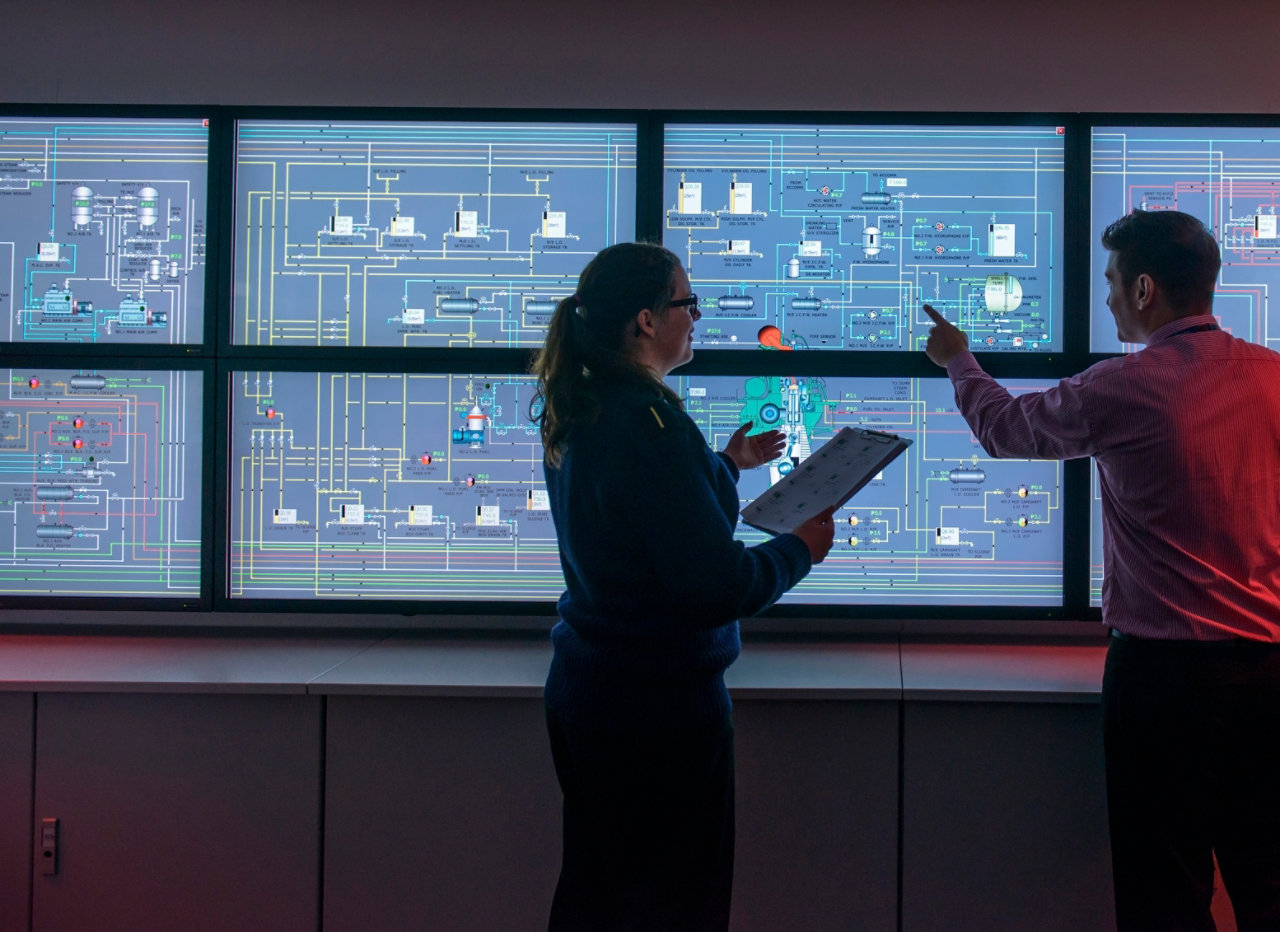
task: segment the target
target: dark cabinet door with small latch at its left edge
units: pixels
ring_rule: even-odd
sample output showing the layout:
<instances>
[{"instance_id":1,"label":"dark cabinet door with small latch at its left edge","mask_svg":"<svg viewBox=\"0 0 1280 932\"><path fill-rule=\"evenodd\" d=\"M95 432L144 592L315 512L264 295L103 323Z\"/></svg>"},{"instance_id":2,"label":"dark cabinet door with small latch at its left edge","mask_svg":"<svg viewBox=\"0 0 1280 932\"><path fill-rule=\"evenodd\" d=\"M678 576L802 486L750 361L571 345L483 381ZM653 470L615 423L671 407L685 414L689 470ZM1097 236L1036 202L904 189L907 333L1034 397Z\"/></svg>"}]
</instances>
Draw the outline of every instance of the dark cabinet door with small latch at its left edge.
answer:
<instances>
[{"instance_id":1,"label":"dark cabinet door with small latch at its left edge","mask_svg":"<svg viewBox=\"0 0 1280 932\"><path fill-rule=\"evenodd\" d=\"M44 694L36 932L315 932L320 699Z\"/></svg>"}]
</instances>

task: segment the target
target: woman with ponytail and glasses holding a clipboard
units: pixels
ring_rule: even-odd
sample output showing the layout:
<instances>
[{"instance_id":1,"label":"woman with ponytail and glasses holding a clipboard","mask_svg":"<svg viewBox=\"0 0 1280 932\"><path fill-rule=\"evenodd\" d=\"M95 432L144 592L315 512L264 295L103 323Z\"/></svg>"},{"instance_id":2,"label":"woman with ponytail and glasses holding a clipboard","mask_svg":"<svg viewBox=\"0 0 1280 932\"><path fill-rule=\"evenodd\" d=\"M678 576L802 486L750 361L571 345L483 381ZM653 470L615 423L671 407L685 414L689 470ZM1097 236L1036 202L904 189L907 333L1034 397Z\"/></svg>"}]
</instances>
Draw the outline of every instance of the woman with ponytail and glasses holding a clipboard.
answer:
<instances>
[{"instance_id":1,"label":"woman with ponytail and glasses holding a clipboard","mask_svg":"<svg viewBox=\"0 0 1280 932\"><path fill-rule=\"evenodd\" d=\"M733 539L739 471L783 437L745 424L716 453L663 383L700 316L672 252L620 243L582 270L534 361L567 586L544 694L564 794L552 932L728 928L737 620L831 549L829 512Z\"/></svg>"}]
</instances>

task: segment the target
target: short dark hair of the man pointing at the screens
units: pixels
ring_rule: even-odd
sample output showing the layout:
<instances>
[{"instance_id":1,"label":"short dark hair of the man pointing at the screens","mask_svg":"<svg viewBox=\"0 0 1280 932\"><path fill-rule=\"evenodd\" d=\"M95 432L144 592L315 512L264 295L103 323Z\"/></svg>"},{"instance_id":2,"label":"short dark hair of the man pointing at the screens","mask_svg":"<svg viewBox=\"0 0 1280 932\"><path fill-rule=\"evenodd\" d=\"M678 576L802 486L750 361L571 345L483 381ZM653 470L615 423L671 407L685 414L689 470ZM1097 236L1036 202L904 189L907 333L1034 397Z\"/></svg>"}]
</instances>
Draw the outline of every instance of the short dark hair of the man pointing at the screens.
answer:
<instances>
[{"instance_id":1,"label":"short dark hair of the man pointing at the screens","mask_svg":"<svg viewBox=\"0 0 1280 932\"><path fill-rule=\"evenodd\" d=\"M1222 257L1212 234L1190 214L1134 210L1107 227L1102 246L1116 253L1116 271L1125 288L1146 273L1175 311L1213 303Z\"/></svg>"}]
</instances>

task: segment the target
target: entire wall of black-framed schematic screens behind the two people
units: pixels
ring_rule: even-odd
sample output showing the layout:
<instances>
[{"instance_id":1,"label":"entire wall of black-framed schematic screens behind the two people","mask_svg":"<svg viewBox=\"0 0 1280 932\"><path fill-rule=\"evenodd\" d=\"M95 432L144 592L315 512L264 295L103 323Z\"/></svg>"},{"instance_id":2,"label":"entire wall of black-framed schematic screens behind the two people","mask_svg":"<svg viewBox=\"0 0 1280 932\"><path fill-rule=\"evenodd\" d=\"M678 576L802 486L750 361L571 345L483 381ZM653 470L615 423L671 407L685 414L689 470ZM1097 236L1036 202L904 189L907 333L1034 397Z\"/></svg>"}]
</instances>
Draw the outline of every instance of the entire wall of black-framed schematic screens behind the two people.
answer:
<instances>
[{"instance_id":1,"label":"entire wall of black-framed schematic screens behind the two people","mask_svg":"<svg viewBox=\"0 0 1280 932\"><path fill-rule=\"evenodd\" d=\"M669 384L708 443L788 437L744 506L841 426L913 440L772 613L1096 618L1088 462L987 456L920 305L1039 390L1133 349L1097 241L1179 209L1222 325L1280 348L1266 123L0 108L0 606L544 623L530 356L596 251L654 239L699 294Z\"/></svg>"}]
</instances>

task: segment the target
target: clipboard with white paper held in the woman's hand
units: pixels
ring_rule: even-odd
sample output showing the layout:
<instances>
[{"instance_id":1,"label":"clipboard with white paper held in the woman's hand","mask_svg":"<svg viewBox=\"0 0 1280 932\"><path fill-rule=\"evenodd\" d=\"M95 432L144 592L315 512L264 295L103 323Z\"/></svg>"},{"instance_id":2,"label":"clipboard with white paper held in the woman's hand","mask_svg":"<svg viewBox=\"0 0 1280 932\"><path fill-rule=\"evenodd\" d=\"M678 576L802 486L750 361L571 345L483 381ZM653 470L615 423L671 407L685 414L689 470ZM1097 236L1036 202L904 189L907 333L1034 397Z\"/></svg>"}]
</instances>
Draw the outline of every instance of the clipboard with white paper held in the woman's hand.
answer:
<instances>
[{"instance_id":1,"label":"clipboard with white paper held in the woman's hand","mask_svg":"<svg viewBox=\"0 0 1280 932\"><path fill-rule=\"evenodd\" d=\"M787 534L823 510L842 506L910 446L896 434L841 428L742 508L742 521L769 534Z\"/></svg>"}]
</instances>

